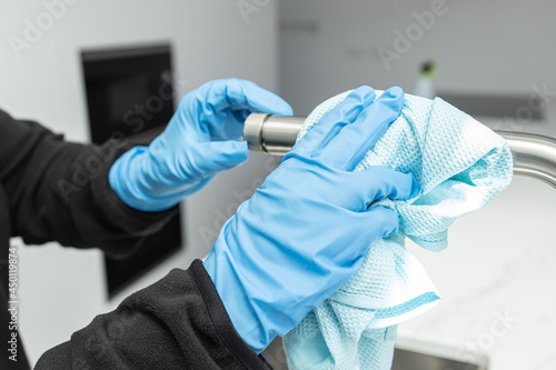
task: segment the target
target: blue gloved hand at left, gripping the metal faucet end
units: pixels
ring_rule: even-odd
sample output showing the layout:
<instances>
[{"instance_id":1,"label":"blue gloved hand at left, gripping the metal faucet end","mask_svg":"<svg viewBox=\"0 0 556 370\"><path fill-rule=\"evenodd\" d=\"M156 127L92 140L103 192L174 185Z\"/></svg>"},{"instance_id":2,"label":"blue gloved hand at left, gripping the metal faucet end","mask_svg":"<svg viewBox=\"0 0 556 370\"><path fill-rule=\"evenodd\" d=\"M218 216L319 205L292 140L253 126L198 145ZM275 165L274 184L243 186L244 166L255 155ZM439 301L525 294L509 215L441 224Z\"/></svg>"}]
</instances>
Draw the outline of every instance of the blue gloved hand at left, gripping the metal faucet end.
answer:
<instances>
[{"instance_id":1,"label":"blue gloved hand at left, gripping the metal faucet end","mask_svg":"<svg viewBox=\"0 0 556 370\"><path fill-rule=\"evenodd\" d=\"M109 182L128 206L160 211L247 160L244 121L252 112L291 116L287 102L257 84L217 80L189 92L166 130L111 167Z\"/></svg>"}]
</instances>

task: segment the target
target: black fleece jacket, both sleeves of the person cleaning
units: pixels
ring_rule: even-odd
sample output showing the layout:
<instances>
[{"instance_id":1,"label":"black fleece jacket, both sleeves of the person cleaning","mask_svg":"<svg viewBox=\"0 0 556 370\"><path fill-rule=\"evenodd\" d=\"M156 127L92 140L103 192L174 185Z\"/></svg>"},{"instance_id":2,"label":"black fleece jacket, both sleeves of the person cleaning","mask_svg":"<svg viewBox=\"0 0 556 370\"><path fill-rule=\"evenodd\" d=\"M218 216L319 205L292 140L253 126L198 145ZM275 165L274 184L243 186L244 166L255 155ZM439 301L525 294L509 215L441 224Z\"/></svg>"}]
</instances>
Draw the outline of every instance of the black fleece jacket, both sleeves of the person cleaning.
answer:
<instances>
[{"instance_id":1,"label":"black fleece jacket, both sleeves of the person cleaning","mask_svg":"<svg viewBox=\"0 0 556 370\"><path fill-rule=\"evenodd\" d=\"M102 249L125 258L160 230L176 209L140 212L123 204L108 183L120 141L83 146L63 141L38 123L0 110L0 332L9 340L9 238L27 244ZM29 273L19 271L19 273ZM6 341L3 341L6 343ZM18 362L29 369L19 343ZM1 353L0 352L0 353ZM47 351L36 369L268 369L238 336L202 263L166 278L100 314L68 342Z\"/></svg>"}]
</instances>

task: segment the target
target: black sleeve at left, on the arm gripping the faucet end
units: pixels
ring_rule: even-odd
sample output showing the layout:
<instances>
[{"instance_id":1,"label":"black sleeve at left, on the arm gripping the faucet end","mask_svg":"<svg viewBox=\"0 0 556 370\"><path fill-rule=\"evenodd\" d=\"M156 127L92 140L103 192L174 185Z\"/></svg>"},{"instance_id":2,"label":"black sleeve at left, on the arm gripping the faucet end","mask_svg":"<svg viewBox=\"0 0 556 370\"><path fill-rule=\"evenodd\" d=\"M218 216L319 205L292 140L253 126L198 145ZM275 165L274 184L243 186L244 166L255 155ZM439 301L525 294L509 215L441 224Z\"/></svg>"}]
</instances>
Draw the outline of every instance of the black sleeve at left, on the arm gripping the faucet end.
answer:
<instances>
[{"instance_id":1,"label":"black sleeve at left, on the arm gripping the faucet end","mask_svg":"<svg viewBox=\"0 0 556 370\"><path fill-rule=\"evenodd\" d=\"M67 142L0 110L0 181L9 198L11 234L28 244L56 240L99 247L112 257L130 252L177 210L141 212L121 202L108 171L127 149L118 140L103 146Z\"/></svg>"}]
</instances>

